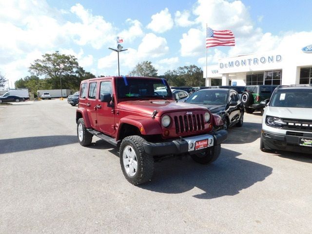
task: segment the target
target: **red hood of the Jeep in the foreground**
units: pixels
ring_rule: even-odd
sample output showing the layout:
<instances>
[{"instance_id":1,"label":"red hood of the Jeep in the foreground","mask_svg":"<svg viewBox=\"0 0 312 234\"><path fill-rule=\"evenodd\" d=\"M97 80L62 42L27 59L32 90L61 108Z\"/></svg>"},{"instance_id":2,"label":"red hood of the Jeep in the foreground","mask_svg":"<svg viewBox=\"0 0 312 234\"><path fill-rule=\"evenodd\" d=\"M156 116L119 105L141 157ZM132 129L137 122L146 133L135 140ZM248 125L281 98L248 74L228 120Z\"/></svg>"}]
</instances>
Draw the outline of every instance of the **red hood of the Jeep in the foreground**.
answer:
<instances>
[{"instance_id":1,"label":"red hood of the Jeep in the foreground","mask_svg":"<svg viewBox=\"0 0 312 234\"><path fill-rule=\"evenodd\" d=\"M162 116L164 113L179 111L203 110L203 107L174 100L134 100L122 101L117 104L120 110L130 111L133 113L152 115L156 110L156 116ZM206 107L207 108L207 107Z\"/></svg>"}]
</instances>

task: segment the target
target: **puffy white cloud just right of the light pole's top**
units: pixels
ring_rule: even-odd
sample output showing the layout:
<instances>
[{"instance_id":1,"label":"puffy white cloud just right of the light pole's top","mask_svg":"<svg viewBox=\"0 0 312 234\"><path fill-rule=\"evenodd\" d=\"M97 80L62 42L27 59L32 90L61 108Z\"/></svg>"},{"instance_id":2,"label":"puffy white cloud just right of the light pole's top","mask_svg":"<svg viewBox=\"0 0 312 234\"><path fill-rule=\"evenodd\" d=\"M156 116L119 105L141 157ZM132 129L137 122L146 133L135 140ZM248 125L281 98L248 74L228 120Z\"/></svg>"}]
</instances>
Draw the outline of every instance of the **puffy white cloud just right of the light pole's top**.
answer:
<instances>
[{"instance_id":1,"label":"puffy white cloud just right of the light pole's top","mask_svg":"<svg viewBox=\"0 0 312 234\"><path fill-rule=\"evenodd\" d=\"M155 58L168 53L169 47L167 46L167 40L165 38L157 37L153 33L148 33L142 39L137 51L139 57Z\"/></svg>"}]
</instances>

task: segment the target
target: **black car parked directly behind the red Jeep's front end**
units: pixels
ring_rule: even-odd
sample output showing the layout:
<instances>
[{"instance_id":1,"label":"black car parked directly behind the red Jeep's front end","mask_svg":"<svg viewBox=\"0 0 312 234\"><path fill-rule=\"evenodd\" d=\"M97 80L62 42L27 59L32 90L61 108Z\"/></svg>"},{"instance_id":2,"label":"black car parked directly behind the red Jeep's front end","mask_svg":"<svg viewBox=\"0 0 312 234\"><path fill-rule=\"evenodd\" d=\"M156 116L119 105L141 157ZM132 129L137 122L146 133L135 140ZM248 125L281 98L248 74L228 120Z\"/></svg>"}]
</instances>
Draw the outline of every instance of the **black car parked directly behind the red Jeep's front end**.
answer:
<instances>
[{"instance_id":1,"label":"black car parked directly behind the red Jeep's front end","mask_svg":"<svg viewBox=\"0 0 312 234\"><path fill-rule=\"evenodd\" d=\"M208 108L223 120L223 129L241 127L244 121L244 105L233 89L202 89L190 96L186 103Z\"/></svg>"}]
</instances>

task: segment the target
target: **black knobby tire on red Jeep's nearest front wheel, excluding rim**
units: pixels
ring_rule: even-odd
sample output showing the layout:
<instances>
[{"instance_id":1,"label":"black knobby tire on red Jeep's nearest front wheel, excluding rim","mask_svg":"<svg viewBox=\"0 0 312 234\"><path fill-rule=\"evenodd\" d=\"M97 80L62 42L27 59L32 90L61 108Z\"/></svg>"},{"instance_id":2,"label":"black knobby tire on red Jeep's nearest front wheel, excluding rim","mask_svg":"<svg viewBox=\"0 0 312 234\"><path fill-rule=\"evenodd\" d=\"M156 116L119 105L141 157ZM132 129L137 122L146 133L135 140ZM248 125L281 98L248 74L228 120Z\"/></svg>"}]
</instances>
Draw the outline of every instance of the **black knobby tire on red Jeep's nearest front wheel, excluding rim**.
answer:
<instances>
[{"instance_id":1,"label":"black knobby tire on red Jeep's nearest front wheel, excluding rim","mask_svg":"<svg viewBox=\"0 0 312 234\"><path fill-rule=\"evenodd\" d=\"M134 185L139 185L148 182L154 174L154 158L153 156L147 155L144 152L143 143L146 140L140 136L129 136L125 137L119 148L119 158L120 166L123 175L125 178ZM126 154L125 149L134 150L136 162L137 162L137 171L133 176L129 175L126 171L126 166L124 165L124 154ZM125 157L125 160L127 157Z\"/></svg>"}]
</instances>

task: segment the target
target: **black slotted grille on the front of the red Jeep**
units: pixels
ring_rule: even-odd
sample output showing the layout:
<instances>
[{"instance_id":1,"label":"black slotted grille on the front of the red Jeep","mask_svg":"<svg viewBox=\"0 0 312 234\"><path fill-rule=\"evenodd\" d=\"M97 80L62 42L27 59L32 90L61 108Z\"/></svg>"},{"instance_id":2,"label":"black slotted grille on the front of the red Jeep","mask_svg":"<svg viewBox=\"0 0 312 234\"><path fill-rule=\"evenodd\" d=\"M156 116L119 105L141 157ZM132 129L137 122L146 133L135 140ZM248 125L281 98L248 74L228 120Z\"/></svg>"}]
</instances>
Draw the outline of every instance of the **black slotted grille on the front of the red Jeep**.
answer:
<instances>
[{"instance_id":1,"label":"black slotted grille on the front of the red Jeep","mask_svg":"<svg viewBox=\"0 0 312 234\"><path fill-rule=\"evenodd\" d=\"M205 128L202 114L175 116L176 133L200 131Z\"/></svg>"}]
</instances>

